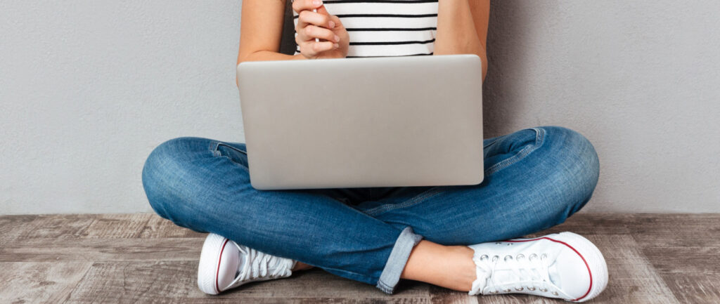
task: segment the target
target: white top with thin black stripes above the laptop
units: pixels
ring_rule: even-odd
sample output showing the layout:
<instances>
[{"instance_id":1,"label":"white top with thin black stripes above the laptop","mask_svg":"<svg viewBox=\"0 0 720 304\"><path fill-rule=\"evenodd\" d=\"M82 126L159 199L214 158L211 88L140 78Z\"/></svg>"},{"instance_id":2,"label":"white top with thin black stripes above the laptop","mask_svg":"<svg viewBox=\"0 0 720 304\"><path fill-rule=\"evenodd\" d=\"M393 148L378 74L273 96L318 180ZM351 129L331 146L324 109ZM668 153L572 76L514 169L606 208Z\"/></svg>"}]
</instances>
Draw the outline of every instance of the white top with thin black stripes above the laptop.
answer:
<instances>
[{"instance_id":1,"label":"white top with thin black stripes above the laptop","mask_svg":"<svg viewBox=\"0 0 720 304\"><path fill-rule=\"evenodd\" d=\"M438 0L325 0L323 4L348 29L348 58L433 54ZM298 47L295 54L299 53Z\"/></svg>"}]
</instances>

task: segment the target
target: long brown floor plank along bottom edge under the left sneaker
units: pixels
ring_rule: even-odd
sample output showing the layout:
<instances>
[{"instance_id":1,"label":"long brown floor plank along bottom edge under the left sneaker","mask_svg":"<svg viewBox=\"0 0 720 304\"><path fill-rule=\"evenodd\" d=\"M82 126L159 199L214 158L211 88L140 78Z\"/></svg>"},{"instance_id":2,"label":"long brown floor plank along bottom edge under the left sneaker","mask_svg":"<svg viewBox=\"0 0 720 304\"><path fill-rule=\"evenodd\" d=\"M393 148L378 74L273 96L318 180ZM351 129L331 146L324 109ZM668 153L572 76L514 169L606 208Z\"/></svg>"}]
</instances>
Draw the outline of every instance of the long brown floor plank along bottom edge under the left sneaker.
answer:
<instances>
[{"instance_id":1,"label":"long brown floor plank along bottom edge under the left sneaker","mask_svg":"<svg viewBox=\"0 0 720 304\"><path fill-rule=\"evenodd\" d=\"M328 299L337 303L352 303L353 299L388 300L388 303L426 303L427 289L402 290L386 295L377 288L330 275L322 270L297 272L292 277L255 282L222 295L204 295L197 288L197 262L97 262L92 264L86 278L76 287L66 303L213 303L223 300L281 298ZM312 288L308 288L312 286ZM183 300L179 300L183 299ZM351 301L346 301L350 299ZM399 301L402 299L419 299ZM423 302L424 301L424 302ZM299 301L314 303L313 301ZM208 301L209 303L209 301Z\"/></svg>"}]
</instances>

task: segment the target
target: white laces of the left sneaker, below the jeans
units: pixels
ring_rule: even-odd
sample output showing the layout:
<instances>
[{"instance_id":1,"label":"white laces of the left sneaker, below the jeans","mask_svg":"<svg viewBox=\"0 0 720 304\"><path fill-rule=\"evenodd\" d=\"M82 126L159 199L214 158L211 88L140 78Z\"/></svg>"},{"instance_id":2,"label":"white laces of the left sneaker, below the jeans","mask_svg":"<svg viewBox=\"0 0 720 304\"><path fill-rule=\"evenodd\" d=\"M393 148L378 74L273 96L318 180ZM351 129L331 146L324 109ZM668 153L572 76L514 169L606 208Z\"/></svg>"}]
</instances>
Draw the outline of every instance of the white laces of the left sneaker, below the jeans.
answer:
<instances>
[{"instance_id":1,"label":"white laces of the left sneaker, below the jeans","mask_svg":"<svg viewBox=\"0 0 720 304\"><path fill-rule=\"evenodd\" d=\"M238 247L240 252L247 254L248 262L244 263L238 270L240 273L236 281L245 282L247 280L256 280L258 277L275 278L287 277L292 269L292 260L275 257L271 254L258 252L250 247Z\"/></svg>"}]
</instances>

